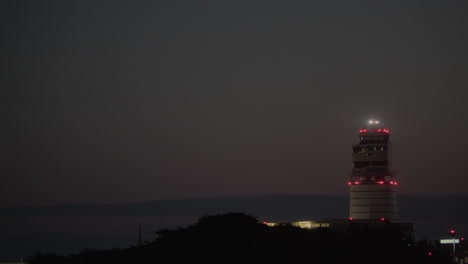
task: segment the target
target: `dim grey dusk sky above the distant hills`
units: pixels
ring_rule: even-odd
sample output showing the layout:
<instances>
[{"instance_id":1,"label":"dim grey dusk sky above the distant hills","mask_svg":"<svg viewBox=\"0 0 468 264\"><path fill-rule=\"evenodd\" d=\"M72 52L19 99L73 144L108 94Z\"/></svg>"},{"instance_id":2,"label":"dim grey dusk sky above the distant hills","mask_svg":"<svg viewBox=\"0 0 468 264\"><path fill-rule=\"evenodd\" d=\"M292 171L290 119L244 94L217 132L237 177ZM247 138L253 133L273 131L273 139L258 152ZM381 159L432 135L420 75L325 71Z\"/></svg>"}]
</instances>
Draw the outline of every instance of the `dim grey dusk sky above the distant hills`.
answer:
<instances>
[{"instance_id":1,"label":"dim grey dusk sky above the distant hills","mask_svg":"<svg viewBox=\"0 0 468 264\"><path fill-rule=\"evenodd\" d=\"M468 4L0 2L0 205L468 187Z\"/></svg>"}]
</instances>

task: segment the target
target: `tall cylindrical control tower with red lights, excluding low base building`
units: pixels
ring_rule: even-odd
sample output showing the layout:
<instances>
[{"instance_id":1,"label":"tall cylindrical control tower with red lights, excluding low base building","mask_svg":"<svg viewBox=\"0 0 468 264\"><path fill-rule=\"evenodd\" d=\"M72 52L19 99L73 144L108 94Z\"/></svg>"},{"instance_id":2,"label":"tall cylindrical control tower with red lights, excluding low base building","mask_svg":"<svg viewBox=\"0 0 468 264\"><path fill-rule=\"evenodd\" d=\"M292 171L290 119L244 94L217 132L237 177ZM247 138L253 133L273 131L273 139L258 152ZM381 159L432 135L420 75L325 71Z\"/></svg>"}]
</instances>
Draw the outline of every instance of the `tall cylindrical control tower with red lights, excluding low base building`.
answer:
<instances>
[{"instance_id":1,"label":"tall cylindrical control tower with red lights, excluding low base building","mask_svg":"<svg viewBox=\"0 0 468 264\"><path fill-rule=\"evenodd\" d=\"M370 120L359 130L359 143L353 145L354 168L350 187L351 219L398 220L395 188L391 171L390 131L380 121Z\"/></svg>"}]
</instances>

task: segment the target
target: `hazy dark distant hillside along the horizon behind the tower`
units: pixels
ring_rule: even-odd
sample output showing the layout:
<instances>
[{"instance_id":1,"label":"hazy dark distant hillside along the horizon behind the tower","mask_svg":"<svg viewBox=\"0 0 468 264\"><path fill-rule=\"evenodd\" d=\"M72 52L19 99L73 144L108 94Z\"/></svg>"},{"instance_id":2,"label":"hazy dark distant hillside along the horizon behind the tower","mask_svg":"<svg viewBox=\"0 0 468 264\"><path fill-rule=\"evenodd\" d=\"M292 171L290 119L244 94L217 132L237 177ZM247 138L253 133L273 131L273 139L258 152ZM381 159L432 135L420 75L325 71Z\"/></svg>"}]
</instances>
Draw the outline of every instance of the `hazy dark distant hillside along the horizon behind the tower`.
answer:
<instances>
[{"instance_id":1,"label":"hazy dark distant hillside along the horizon behind the tower","mask_svg":"<svg viewBox=\"0 0 468 264\"><path fill-rule=\"evenodd\" d=\"M468 196L399 196L398 209L400 221L415 223L417 239L437 240L450 228L468 234ZM143 240L153 240L161 228L224 212L245 212L271 222L347 218L348 197L266 195L0 208L0 262L39 250L126 247L137 243L139 223Z\"/></svg>"}]
</instances>

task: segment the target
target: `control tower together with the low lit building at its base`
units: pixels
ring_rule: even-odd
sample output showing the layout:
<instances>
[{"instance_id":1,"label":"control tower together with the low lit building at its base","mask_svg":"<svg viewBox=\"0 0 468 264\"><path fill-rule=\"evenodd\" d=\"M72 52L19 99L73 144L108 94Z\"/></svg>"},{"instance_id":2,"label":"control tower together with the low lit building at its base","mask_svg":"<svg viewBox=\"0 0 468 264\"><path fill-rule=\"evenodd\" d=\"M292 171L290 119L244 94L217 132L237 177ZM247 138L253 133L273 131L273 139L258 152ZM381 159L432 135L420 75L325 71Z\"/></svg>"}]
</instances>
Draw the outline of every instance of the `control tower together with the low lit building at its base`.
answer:
<instances>
[{"instance_id":1,"label":"control tower together with the low lit building at its base","mask_svg":"<svg viewBox=\"0 0 468 264\"><path fill-rule=\"evenodd\" d=\"M342 232L392 228L413 241L413 223L398 221L395 192L398 183L391 169L390 131L377 120L369 121L366 129L359 130L359 143L353 145L352 160L354 167L348 182L349 218L263 223L272 227L292 225Z\"/></svg>"}]
</instances>

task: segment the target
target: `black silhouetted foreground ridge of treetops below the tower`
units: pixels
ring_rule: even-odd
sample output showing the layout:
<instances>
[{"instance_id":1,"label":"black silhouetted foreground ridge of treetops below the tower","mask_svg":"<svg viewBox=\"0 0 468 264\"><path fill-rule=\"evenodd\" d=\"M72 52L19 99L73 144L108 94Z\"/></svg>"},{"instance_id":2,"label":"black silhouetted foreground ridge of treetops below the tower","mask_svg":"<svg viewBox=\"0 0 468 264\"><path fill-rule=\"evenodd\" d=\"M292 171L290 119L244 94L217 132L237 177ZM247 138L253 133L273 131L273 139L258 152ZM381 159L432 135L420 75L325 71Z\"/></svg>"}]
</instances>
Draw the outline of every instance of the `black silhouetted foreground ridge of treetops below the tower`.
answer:
<instances>
[{"instance_id":1,"label":"black silhouetted foreground ridge of treetops below the tower","mask_svg":"<svg viewBox=\"0 0 468 264\"><path fill-rule=\"evenodd\" d=\"M393 225L346 231L267 226L244 212L205 215L185 228L160 229L154 241L78 254L36 253L31 264L102 263L450 263L436 245ZM431 255L428 254L431 252Z\"/></svg>"}]
</instances>

